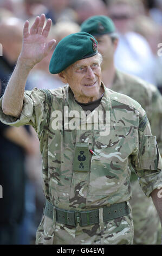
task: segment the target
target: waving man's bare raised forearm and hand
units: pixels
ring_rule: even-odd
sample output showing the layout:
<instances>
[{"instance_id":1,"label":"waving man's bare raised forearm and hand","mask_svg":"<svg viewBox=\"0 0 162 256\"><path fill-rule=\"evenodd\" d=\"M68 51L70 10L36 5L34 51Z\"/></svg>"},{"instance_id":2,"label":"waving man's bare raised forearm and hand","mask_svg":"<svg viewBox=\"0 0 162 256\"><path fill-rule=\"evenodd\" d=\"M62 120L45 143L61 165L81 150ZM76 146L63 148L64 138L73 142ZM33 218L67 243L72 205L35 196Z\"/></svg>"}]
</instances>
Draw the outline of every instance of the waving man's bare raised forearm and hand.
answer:
<instances>
[{"instance_id":1,"label":"waving man's bare raised forearm and hand","mask_svg":"<svg viewBox=\"0 0 162 256\"><path fill-rule=\"evenodd\" d=\"M20 117L23 108L24 88L29 72L36 63L47 56L56 42L56 40L47 40L51 20L48 19L43 28L45 19L44 14L41 17L36 17L30 32L29 22L26 21L24 24L22 51L2 100L2 109L7 115Z\"/></svg>"}]
</instances>

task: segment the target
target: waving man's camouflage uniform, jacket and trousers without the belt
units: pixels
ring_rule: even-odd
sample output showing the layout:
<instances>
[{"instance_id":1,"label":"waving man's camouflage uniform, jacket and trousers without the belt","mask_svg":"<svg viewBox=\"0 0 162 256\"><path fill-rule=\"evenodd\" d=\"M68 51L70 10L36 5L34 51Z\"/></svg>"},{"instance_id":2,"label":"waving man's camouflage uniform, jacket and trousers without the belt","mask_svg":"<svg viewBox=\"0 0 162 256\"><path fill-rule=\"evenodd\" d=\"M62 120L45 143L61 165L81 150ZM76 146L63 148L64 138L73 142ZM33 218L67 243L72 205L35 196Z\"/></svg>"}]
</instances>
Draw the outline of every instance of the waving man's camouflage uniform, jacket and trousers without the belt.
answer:
<instances>
[{"instance_id":1,"label":"waving man's camouflage uniform, jacket and trousers without the belt","mask_svg":"<svg viewBox=\"0 0 162 256\"><path fill-rule=\"evenodd\" d=\"M43 215L36 243L131 244L132 214L103 222L102 206L127 202L131 198L129 164L132 164L139 176L146 196L150 196L162 184L161 157L145 111L128 96L104 89L105 94L95 111L110 113L110 120L105 120L110 129L106 136L100 134L105 130L102 126L93 129L99 123L96 119L92 129L81 130L82 108L74 100L68 86L50 91L53 94L52 105L47 103L41 90L35 88L25 92L23 110L18 119L5 115L0 108L4 123L14 126L29 124L36 130L40 139L46 199L57 208L65 210L100 209L99 223L86 227L72 227L56 222L54 209L53 220ZM75 119L76 122L79 120L79 129L54 129L55 111L62 112L63 121L67 116L69 123L73 121L64 107L68 107L69 112L75 110L80 113ZM74 167L75 151L79 144L88 150L93 149L98 155L86 155L89 157L87 172Z\"/></svg>"}]
</instances>

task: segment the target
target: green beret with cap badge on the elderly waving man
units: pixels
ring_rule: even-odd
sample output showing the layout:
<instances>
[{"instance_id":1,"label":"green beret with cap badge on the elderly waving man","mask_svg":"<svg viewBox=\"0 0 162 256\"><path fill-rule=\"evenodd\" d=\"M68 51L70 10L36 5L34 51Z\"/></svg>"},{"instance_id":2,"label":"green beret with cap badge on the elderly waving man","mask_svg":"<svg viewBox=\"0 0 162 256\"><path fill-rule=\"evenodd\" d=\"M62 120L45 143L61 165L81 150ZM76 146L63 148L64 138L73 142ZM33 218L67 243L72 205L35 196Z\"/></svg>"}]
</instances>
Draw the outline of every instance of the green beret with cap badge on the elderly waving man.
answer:
<instances>
[{"instance_id":1,"label":"green beret with cap badge on the elderly waving man","mask_svg":"<svg viewBox=\"0 0 162 256\"><path fill-rule=\"evenodd\" d=\"M57 44L49 64L51 74L58 74L77 60L92 57L98 53L98 42L86 33L67 35Z\"/></svg>"}]
</instances>

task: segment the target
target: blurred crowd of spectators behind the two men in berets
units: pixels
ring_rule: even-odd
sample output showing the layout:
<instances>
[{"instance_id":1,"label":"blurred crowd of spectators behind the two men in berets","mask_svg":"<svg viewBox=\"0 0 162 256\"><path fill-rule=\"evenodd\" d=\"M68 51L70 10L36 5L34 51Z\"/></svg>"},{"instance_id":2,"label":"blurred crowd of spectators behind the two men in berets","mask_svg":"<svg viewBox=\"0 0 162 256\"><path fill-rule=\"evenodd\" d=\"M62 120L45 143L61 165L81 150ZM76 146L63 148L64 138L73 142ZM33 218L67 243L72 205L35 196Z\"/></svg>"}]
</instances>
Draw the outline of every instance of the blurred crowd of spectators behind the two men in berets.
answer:
<instances>
[{"instance_id":1,"label":"blurred crowd of spectators behind the two men in berets","mask_svg":"<svg viewBox=\"0 0 162 256\"><path fill-rule=\"evenodd\" d=\"M162 0L0 0L1 96L21 51L24 21L31 25L42 13L53 21L49 39L56 39L56 45L79 32L88 17L111 17L120 39L116 68L153 83L162 93ZM52 54L30 72L25 89L63 86L48 70ZM0 185L0 244L35 243L44 195L39 142L31 127L0 122Z\"/></svg>"}]
</instances>

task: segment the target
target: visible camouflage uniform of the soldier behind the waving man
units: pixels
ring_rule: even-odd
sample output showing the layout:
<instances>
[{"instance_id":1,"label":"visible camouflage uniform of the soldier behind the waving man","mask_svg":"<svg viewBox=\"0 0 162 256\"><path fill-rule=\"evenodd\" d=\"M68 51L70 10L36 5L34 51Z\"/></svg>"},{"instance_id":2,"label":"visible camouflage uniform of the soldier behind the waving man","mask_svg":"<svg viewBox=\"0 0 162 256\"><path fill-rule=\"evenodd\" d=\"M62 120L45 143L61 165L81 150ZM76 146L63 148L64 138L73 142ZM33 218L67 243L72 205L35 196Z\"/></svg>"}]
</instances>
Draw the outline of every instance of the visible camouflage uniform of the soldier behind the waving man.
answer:
<instances>
[{"instance_id":1,"label":"visible camouflage uniform of the soldier behind the waving man","mask_svg":"<svg viewBox=\"0 0 162 256\"><path fill-rule=\"evenodd\" d=\"M124 72L116 70L112 90L126 94L138 101L145 109L151 124L152 134L157 136L159 151L162 154L162 96L152 84ZM161 225L157 210L151 198L142 192L137 175L132 170L131 185L133 199L130 201L133 212L134 244L153 245L161 241Z\"/></svg>"}]
</instances>

